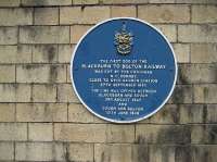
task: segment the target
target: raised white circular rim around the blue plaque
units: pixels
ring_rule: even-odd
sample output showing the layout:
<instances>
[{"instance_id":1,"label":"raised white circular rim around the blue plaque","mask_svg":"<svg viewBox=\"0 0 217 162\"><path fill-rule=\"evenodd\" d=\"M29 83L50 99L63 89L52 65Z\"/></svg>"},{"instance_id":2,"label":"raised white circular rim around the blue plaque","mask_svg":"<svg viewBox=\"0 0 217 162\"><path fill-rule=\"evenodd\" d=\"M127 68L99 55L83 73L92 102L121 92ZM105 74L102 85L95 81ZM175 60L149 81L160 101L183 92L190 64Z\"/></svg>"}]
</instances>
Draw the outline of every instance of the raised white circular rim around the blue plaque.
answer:
<instances>
[{"instance_id":1,"label":"raised white circular rim around the blue plaque","mask_svg":"<svg viewBox=\"0 0 217 162\"><path fill-rule=\"evenodd\" d=\"M74 61L74 57L75 57L75 53L77 51L77 48L78 46L80 45L80 42L82 41L82 39L91 32L93 30L94 28L97 28L98 26L104 24L104 23L107 23L107 22L111 22L111 21L115 21L115 20L132 20L132 21L137 21L137 22L140 22L140 23L143 23L150 27L152 27L153 29L155 29L167 42L167 45L169 46L171 52L173 52L173 55L174 55L174 61L175 61L175 79L174 79L174 84L173 84L173 87L169 91L169 95L166 97L166 99L162 102L162 104L159 107L157 107L152 113L149 113L148 115L144 115L142 117L139 117L139 119L136 119L136 120L129 120L129 121L118 121L118 120L112 120L112 119L107 119L107 117L104 117L98 113L95 113L92 109L90 109L86 103L85 101L82 101L82 99L80 98L79 94L77 92L77 89L76 89L76 86L75 86L75 83L74 83L74 78L73 78L73 61ZM72 52L72 58L71 58L71 80L72 80L72 85L73 85L73 90L75 91L76 96L78 97L79 101L82 103L82 105L85 105L89 112L91 112L92 114L94 114L95 116L104 120L104 121L107 121L107 122L112 122L112 123L119 123L119 124L124 124L124 123L136 123L136 122L139 122L139 121L142 121L142 120L145 120L150 116L152 116L153 114L155 114L156 112L158 112L164 105L165 103L169 100L171 94L174 92L174 89L176 87L176 82L177 82L177 75L178 75L178 64L177 64L177 58L176 58L176 54L174 52L174 48L171 47L171 43L169 42L169 40L167 39L167 37L158 29L156 28L154 25L143 21L143 20L140 20L140 18L136 18L136 17L112 17L112 18L106 18L104 21L101 21L99 22L98 24L95 24L94 26L92 26L91 28L89 28L82 36L81 38L78 40L77 45L75 46L73 52Z\"/></svg>"}]
</instances>

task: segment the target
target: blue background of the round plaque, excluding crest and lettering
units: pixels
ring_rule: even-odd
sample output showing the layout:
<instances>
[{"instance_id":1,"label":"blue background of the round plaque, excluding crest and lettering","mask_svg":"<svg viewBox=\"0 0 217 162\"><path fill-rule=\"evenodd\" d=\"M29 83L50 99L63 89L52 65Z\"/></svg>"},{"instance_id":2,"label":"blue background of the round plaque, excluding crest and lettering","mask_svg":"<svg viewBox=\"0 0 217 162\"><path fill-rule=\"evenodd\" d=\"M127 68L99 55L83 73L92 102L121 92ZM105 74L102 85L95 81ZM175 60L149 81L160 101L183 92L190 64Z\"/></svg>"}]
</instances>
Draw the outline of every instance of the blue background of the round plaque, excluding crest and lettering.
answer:
<instances>
[{"instance_id":1,"label":"blue background of the round plaque, excluding crest and lettering","mask_svg":"<svg viewBox=\"0 0 217 162\"><path fill-rule=\"evenodd\" d=\"M123 26L123 21L126 22L127 30L133 34L132 50L127 55L117 53L114 45L114 35ZM150 95L140 102L127 102L128 107L143 107L144 110L138 115L131 114L106 114L102 110L103 105L118 107L118 102L104 101L98 97L98 94L92 92L91 88L100 88L88 82L89 78L107 78L110 74L95 74L90 70L81 68L81 64L99 63L99 60L148 60L149 64L165 64L165 70L153 71L153 74L141 74L138 78L157 78L158 84L149 84L146 88L156 89L156 94ZM162 103L167 99L175 84L176 77L176 61L173 51L166 39L153 27L142 22L120 18L105 22L92 30L90 30L76 48L74 60L72 61L72 75L77 95L89 110L101 117L111 121L136 121L148 116L156 111ZM106 87L107 88L107 87ZM114 88L114 87L110 87ZM115 87L122 89L123 87ZM135 89L142 89L135 87Z\"/></svg>"}]
</instances>

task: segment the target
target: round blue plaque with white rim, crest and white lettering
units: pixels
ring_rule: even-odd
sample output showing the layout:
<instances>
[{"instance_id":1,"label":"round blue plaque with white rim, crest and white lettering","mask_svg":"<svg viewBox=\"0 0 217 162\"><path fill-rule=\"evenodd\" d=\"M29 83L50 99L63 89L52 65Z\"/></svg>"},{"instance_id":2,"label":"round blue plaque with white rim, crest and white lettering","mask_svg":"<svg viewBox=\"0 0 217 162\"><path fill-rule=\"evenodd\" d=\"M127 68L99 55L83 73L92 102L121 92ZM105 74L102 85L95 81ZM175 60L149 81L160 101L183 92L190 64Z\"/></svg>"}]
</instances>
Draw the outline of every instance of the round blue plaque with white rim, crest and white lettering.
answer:
<instances>
[{"instance_id":1,"label":"round blue plaque with white rim, crest and white lettering","mask_svg":"<svg viewBox=\"0 0 217 162\"><path fill-rule=\"evenodd\" d=\"M78 41L71 63L75 92L97 116L132 123L156 113L169 99L177 61L166 37L131 17L111 18Z\"/></svg>"}]
</instances>

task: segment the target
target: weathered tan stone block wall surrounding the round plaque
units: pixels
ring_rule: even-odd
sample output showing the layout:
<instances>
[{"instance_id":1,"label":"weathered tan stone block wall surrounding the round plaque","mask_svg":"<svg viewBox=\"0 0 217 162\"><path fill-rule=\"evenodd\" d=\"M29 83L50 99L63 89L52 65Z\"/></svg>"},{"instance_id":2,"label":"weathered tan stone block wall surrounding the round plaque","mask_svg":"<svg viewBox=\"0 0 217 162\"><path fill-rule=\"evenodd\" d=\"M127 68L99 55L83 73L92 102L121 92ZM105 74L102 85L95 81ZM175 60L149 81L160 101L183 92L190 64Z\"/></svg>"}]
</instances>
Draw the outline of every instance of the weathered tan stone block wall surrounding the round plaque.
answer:
<instances>
[{"instance_id":1,"label":"weathered tan stone block wall surrounding the round plaque","mask_svg":"<svg viewBox=\"0 0 217 162\"><path fill-rule=\"evenodd\" d=\"M216 162L217 0L0 0L0 161ZM90 114L71 85L72 49L95 23L132 16L173 43L178 82L136 124Z\"/></svg>"}]
</instances>

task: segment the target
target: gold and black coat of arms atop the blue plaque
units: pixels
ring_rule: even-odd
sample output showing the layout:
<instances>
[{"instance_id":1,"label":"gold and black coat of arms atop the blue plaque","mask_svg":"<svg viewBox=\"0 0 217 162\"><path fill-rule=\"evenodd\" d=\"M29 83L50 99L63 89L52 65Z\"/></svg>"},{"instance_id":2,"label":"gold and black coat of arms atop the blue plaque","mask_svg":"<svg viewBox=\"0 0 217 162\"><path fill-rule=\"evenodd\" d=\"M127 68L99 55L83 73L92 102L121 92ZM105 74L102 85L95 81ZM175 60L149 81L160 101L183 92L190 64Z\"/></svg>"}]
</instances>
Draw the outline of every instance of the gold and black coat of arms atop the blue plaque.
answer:
<instances>
[{"instance_id":1,"label":"gold and black coat of arms atop the blue plaque","mask_svg":"<svg viewBox=\"0 0 217 162\"><path fill-rule=\"evenodd\" d=\"M126 29L126 23L123 22L122 29L115 34L116 50L122 55L130 53L133 43L133 35Z\"/></svg>"}]
</instances>

